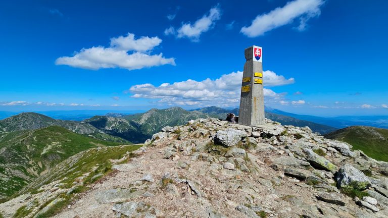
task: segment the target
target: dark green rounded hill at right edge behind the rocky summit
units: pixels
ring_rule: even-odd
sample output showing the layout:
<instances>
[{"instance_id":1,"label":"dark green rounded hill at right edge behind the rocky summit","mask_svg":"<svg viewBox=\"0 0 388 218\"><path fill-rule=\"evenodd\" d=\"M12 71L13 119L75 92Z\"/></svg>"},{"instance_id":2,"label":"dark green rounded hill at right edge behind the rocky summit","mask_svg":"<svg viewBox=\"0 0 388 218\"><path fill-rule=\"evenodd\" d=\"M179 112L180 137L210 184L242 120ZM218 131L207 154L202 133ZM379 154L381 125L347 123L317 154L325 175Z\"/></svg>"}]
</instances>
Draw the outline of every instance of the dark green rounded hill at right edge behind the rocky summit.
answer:
<instances>
[{"instance_id":1,"label":"dark green rounded hill at right edge behind the rocky summit","mask_svg":"<svg viewBox=\"0 0 388 218\"><path fill-rule=\"evenodd\" d=\"M326 138L348 142L355 150L388 162L388 129L352 126L325 135Z\"/></svg>"}]
</instances>

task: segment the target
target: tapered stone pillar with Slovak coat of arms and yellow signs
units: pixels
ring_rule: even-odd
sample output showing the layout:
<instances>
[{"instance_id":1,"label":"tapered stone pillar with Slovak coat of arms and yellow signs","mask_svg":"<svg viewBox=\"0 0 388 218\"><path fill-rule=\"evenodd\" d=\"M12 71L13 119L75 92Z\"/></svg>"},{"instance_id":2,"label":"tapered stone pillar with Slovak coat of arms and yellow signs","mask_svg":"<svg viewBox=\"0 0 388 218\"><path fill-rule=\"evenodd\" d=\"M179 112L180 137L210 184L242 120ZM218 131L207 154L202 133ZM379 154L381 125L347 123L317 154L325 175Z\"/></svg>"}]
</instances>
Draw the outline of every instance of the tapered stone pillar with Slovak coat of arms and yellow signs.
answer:
<instances>
[{"instance_id":1,"label":"tapered stone pillar with Slovak coat of arms and yellow signs","mask_svg":"<svg viewBox=\"0 0 388 218\"><path fill-rule=\"evenodd\" d=\"M241 85L238 123L252 126L264 124L263 49L245 49L243 84Z\"/></svg>"}]
</instances>

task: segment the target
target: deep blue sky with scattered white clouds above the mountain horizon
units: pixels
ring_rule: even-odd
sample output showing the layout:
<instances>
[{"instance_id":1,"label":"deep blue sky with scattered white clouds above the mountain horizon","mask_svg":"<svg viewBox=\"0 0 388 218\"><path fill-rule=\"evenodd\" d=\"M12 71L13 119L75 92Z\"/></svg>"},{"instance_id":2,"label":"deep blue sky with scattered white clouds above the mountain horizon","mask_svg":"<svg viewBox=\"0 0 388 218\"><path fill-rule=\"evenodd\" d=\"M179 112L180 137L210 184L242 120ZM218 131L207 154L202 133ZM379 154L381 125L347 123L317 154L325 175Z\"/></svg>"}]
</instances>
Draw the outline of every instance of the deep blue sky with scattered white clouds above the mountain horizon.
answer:
<instances>
[{"instance_id":1,"label":"deep blue sky with scattered white clouds above the mountain horizon","mask_svg":"<svg viewBox=\"0 0 388 218\"><path fill-rule=\"evenodd\" d=\"M2 1L0 110L235 107L244 49L265 102L388 114L386 1Z\"/></svg>"}]
</instances>

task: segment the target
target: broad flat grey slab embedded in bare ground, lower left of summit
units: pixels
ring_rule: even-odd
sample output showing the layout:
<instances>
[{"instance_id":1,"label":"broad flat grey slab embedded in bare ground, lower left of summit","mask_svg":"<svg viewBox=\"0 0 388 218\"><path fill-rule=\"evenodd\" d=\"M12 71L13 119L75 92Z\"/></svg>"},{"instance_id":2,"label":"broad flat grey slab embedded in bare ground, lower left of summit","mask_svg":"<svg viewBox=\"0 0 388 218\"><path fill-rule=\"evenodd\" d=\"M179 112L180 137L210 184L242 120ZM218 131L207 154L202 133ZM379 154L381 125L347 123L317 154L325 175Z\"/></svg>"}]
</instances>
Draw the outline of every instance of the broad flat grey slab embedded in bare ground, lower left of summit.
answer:
<instances>
[{"instance_id":1,"label":"broad flat grey slab embedded in bare ground, lower left of summit","mask_svg":"<svg viewBox=\"0 0 388 218\"><path fill-rule=\"evenodd\" d=\"M109 189L95 194L95 200L99 203L117 203L124 202L131 198L141 196L139 191L131 191L129 189Z\"/></svg>"}]
</instances>

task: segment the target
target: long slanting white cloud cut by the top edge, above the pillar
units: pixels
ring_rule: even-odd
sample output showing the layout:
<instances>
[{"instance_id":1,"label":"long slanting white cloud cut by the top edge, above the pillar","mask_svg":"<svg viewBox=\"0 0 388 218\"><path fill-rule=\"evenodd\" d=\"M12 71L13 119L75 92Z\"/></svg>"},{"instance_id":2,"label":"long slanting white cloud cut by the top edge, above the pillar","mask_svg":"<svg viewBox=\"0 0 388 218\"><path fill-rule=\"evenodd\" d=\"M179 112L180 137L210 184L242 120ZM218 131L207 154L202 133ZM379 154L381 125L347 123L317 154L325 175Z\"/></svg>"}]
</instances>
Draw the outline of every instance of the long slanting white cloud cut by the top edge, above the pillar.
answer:
<instances>
[{"instance_id":1,"label":"long slanting white cloud cut by the top edge, above the pillar","mask_svg":"<svg viewBox=\"0 0 388 218\"><path fill-rule=\"evenodd\" d=\"M306 22L313 17L318 17L321 13L320 7L323 0L295 0L288 2L282 8L276 8L267 14L258 15L250 26L241 28L240 32L248 37L263 35L272 29L293 22L300 18L298 30L306 28Z\"/></svg>"}]
</instances>

